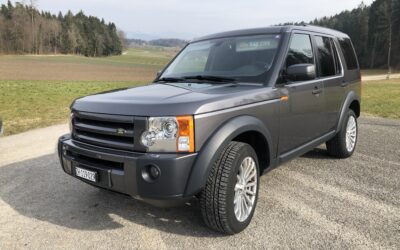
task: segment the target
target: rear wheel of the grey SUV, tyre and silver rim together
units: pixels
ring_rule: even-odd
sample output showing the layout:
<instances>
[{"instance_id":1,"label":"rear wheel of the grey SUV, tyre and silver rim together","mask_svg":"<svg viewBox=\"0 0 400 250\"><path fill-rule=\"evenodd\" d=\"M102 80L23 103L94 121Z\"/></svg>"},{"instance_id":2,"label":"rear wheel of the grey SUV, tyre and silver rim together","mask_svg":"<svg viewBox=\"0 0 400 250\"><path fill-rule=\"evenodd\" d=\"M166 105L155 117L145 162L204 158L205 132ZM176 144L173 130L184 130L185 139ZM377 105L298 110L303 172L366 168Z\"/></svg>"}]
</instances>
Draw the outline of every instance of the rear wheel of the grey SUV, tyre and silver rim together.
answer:
<instances>
[{"instance_id":1,"label":"rear wheel of the grey SUV, tyre and silver rim together","mask_svg":"<svg viewBox=\"0 0 400 250\"><path fill-rule=\"evenodd\" d=\"M354 126L352 126L354 122ZM350 131L351 130L351 131ZM349 134L350 133L350 134ZM351 144L349 141L346 141L346 138L350 136L353 138L349 138L349 140L353 141ZM358 139L358 123L357 116L353 110L349 110L346 114L346 119L341 126L340 131L335 135L334 138L326 142L326 148L328 150L329 155L336 158L348 158L353 155L354 150L356 149Z\"/></svg>"}]
</instances>

